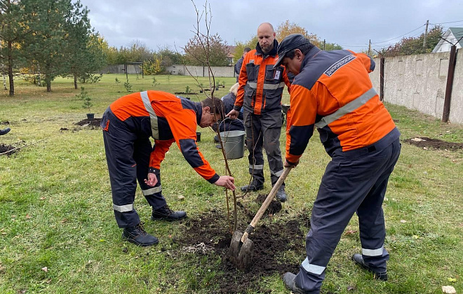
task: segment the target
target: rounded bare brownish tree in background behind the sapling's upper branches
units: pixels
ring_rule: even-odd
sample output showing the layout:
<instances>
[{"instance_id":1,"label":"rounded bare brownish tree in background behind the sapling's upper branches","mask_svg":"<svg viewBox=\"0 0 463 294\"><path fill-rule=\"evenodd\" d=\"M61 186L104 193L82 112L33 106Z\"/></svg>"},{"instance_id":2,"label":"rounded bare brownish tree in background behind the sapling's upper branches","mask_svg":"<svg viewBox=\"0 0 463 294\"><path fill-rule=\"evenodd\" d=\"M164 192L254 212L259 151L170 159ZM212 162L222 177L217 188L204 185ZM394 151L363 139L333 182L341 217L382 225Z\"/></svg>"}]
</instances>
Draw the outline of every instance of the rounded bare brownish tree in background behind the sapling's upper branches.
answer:
<instances>
[{"instance_id":1,"label":"rounded bare brownish tree in background behind the sapling's upper branches","mask_svg":"<svg viewBox=\"0 0 463 294\"><path fill-rule=\"evenodd\" d=\"M229 50L227 42L219 34L206 36L196 35L190 38L187 45L182 48L185 53L184 63L189 65L227 66ZM208 54L206 54L208 52ZM208 55L208 56L207 56ZM208 60L207 60L208 59Z\"/></svg>"}]
</instances>

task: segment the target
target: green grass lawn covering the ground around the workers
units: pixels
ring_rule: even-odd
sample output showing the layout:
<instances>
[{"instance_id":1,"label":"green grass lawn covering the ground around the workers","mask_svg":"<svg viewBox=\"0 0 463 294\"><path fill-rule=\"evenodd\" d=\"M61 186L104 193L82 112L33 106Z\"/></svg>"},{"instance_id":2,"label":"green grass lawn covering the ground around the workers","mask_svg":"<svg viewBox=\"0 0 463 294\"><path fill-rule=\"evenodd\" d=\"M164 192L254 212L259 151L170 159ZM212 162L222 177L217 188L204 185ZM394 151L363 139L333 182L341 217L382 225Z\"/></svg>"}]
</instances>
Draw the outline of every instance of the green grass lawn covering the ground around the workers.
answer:
<instances>
[{"instance_id":1,"label":"green grass lawn covering the ground around the workers","mask_svg":"<svg viewBox=\"0 0 463 294\"><path fill-rule=\"evenodd\" d=\"M126 94L123 83L114 82L116 77L126 80L125 75L105 75L100 83L84 85L92 97L95 117L101 117L109 104ZM129 80L133 91L152 89L152 77L137 79L132 75ZM199 90L189 77L156 76L156 80L159 85L155 90L184 92L187 85ZM222 97L235 80L218 80L226 83L225 89L216 92L217 97ZM201 83L206 85L207 78L201 78ZM137 211L146 221L147 231L159 237L160 244L139 248L121 241L121 230L112 212L101 131L75 125L88 112L75 98L80 88L74 90L72 80L64 78L52 83L51 93L19 79L15 87L15 97L8 97L8 91L0 93L0 122L8 121L12 129L0 137L0 144L38 143L10 157L0 156L0 293L218 290L214 277L219 274L220 260L178 252L170 238L182 235L184 227L148 221L150 207L140 191L135 198ZM199 101L204 96L190 97ZM283 102L289 102L287 92ZM390 104L387 108L398 120L402 140L431 137L463 142L461 125L443 124ZM69 130L60 131L63 127ZM200 150L217 172L224 174L213 131L199 131ZM282 134L282 149L284 142ZM284 217L310 211L329 160L315 134L300 165L286 181L290 201L283 204L288 211ZM232 160L230 165L237 186L248 183L247 158ZM225 210L223 189L201 179L175 146L166 155L162 170L163 192L174 209L186 210L190 218L197 218L211 207ZM267 166L265 170L269 179ZM446 285L462 293L462 179L463 151L424 150L403 143L383 205L386 247L391 255L389 281L373 280L371 274L349 260L361 249L357 232L342 236L328 265L322 293L442 293L441 286ZM269 190L269 183L265 188ZM185 199L179 200L178 195ZM256 205L246 199L243 203ZM279 221L278 214L275 221ZM355 216L347 230L358 230ZM168 255L161 248L175 254ZM286 258L295 264L302 262L292 253ZM260 283L274 289L272 293L289 293L281 276L262 276ZM347 290L349 286L355 290Z\"/></svg>"}]
</instances>

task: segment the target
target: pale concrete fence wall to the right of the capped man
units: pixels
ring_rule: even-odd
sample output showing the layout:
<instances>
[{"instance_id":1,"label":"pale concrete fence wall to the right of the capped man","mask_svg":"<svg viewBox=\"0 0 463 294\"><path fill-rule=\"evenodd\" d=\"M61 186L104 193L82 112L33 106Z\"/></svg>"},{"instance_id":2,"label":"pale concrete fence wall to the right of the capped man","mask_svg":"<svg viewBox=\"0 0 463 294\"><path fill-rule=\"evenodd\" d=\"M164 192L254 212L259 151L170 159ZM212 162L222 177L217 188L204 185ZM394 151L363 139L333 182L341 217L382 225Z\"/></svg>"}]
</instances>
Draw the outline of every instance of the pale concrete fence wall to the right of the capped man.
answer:
<instances>
[{"instance_id":1,"label":"pale concrete fence wall to the right of the capped man","mask_svg":"<svg viewBox=\"0 0 463 294\"><path fill-rule=\"evenodd\" d=\"M458 51L449 120L463 124L463 50ZM450 52L441 52L384 59L384 102L442 119L449 58ZM370 79L380 93L380 58L375 62Z\"/></svg>"}]
</instances>

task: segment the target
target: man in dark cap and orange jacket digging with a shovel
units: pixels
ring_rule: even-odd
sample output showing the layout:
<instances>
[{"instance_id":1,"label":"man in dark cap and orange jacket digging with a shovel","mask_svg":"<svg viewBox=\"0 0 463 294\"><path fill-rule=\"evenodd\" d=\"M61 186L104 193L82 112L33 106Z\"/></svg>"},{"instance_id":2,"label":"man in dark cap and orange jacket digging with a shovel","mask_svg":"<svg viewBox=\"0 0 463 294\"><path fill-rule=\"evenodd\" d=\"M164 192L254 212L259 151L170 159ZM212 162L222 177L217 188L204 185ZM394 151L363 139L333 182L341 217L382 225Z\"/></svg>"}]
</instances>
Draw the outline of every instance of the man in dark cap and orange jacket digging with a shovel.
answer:
<instances>
[{"instance_id":1,"label":"man in dark cap and orange jacket digging with a shovel","mask_svg":"<svg viewBox=\"0 0 463 294\"><path fill-rule=\"evenodd\" d=\"M401 150L400 133L368 73L375 62L350 50L321 51L300 34L283 39L279 60L295 74L286 130L285 167L296 166L314 127L332 158L312 207L307 258L283 281L295 293L320 293L342 232L358 216L362 254L352 259L387 280L382 202Z\"/></svg>"}]
</instances>

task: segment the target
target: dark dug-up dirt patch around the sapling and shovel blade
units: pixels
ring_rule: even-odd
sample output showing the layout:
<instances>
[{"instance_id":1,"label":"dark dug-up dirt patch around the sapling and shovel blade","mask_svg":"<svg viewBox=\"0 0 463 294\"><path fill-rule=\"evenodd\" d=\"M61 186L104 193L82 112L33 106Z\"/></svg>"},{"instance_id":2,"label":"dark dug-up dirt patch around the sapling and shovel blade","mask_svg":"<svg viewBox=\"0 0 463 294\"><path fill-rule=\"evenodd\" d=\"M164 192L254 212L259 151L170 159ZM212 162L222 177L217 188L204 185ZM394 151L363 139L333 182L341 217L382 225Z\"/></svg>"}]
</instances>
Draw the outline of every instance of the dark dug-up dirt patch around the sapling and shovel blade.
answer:
<instances>
[{"instance_id":1,"label":"dark dug-up dirt patch around the sapling and shovel blade","mask_svg":"<svg viewBox=\"0 0 463 294\"><path fill-rule=\"evenodd\" d=\"M281 204L278 204L281 211ZM246 229L256 212L239 211L238 228L241 232ZM241 216L243 213L244 216ZM276 220L271 225L257 225L255 232L249 237L255 245L253 262L245 271L236 269L229 259L231 232L226 215L213 210L199 218L188 218L184 223L187 230L182 233L183 238L174 240L182 246L182 252L207 255L208 259L219 262L214 286L218 285L220 290L211 289L210 293L271 293L271 288L258 284L262 276L282 276L285 272L299 272L300 262L305 258L305 237L301 228L308 230L310 227L309 215L287 220L282 214L281 223ZM267 214L267 218L269 217L271 214ZM288 260L288 253L296 255L297 261Z\"/></svg>"}]
</instances>

